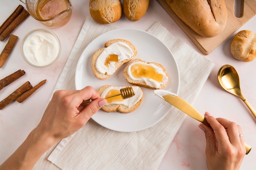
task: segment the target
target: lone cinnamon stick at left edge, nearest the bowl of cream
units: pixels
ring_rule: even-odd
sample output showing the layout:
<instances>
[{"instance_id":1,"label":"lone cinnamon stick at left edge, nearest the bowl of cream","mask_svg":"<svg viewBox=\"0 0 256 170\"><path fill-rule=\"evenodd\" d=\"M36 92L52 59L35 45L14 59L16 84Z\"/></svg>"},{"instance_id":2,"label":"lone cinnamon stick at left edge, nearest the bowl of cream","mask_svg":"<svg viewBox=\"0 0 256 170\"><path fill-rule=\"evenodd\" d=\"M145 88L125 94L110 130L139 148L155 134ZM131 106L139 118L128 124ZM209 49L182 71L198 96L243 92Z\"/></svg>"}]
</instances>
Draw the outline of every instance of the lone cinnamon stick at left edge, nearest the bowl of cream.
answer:
<instances>
[{"instance_id":1,"label":"lone cinnamon stick at left edge, nearest the bowl of cream","mask_svg":"<svg viewBox=\"0 0 256 170\"><path fill-rule=\"evenodd\" d=\"M14 45L16 44L18 37L16 35L11 35L7 44L5 45L4 49L2 50L0 54L0 68L4 65L5 61L9 57L9 54L11 53Z\"/></svg>"}]
</instances>

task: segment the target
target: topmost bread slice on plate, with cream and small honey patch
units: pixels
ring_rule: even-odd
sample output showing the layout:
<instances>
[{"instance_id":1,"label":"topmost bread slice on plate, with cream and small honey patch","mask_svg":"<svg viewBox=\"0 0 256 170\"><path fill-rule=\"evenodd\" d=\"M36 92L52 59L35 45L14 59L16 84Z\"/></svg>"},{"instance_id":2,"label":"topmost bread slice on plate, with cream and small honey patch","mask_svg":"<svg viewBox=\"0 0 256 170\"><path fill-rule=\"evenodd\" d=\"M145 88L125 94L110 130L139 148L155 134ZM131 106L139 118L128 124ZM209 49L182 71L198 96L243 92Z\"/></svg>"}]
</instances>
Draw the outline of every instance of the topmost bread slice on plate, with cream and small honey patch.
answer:
<instances>
[{"instance_id":1,"label":"topmost bread slice on plate, with cream and small honey patch","mask_svg":"<svg viewBox=\"0 0 256 170\"><path fill-rule=\"evenodd\" d=\"M112 39L105 43L105 48L94 52L92 71L99 79L112 76L121 65L131 61L137 54L135 46L125 39Z\"/></svg>"}]
</instances>

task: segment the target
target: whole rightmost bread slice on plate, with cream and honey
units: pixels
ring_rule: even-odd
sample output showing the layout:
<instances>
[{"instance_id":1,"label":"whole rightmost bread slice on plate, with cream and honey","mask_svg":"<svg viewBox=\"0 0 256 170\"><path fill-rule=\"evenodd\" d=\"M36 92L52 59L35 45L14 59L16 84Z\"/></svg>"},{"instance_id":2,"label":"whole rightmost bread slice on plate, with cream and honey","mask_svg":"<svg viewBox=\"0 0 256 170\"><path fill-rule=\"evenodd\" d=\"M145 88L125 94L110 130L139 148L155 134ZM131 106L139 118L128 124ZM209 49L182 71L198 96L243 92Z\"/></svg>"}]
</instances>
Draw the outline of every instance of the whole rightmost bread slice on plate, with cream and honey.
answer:
<instances>
[{"instance_id":1,"label":"whole rightmost bread slice on plate, with cream and honey","mask_svg":"<svg viewBox=\"0 0 256 170\"><path fill-rule=\"evenodd\" d=\"M124 78L128 83L150 89L163 89L168 82L168 74L161 64L141 59L134 59L125 67Z\"/></svg>"}]
</instances>

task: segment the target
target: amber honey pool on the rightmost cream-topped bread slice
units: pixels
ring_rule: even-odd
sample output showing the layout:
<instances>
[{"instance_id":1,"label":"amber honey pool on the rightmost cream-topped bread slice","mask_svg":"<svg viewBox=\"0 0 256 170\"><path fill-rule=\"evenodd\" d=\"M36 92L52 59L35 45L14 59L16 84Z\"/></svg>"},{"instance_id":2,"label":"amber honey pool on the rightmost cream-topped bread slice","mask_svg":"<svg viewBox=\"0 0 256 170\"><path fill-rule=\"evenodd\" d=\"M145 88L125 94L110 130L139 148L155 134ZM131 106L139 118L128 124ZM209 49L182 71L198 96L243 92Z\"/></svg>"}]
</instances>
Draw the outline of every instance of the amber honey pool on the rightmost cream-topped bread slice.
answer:
<instances>
[{"instance_id":1,"label":"amber honey pool on the rightmost cream-topped bread slice","mask_svg":"<svg viewBox=\"0 0 256 170\"><path fill-rule=\"evenodd\" d=\"M157 73L155 68L153 68L151 65L134 64L130 68L130 71L134 78L145 77L145 78L152 78L157 82L163 81L163 75Z\"/></svg>"}]
</instances>

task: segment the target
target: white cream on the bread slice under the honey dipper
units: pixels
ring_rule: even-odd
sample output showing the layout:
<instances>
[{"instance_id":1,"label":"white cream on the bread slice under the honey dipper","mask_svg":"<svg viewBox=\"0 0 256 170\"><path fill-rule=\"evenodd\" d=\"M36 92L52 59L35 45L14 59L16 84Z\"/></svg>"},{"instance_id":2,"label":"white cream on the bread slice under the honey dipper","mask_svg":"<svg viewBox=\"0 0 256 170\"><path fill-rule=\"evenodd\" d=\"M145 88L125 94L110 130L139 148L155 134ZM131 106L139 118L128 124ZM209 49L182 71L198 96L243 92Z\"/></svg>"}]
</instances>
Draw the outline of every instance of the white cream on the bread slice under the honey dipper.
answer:
<instances>
[{"instance_id":1,"label":"white cream on the bread slice under the honey dipper","mask_svg":"<svg viewBox=\"0 0 256 170\"><path fill-rule=\"evenodd\" d=\"M111 89L116 89L116 90L120 90L122 88L125 88L125 87L113 87L113 86L110 86L108 88L106 88L102 94L101 94L101 98L105 98L105 96L108 94L108 92L111 90ZM111 103L108 103L107 105L111 105L111 104L117 104L117 105L125 105L127 106L128 108L130 108L132 105L135 105L142 97L143 95L143 92L142 90L137 87L137 86L132 86L132 89L133 91L135 92L135 96L132 96L130 98L126 98L122 101L116 101L116 102L111 102Z\"/></svg>"}]
</instances>

